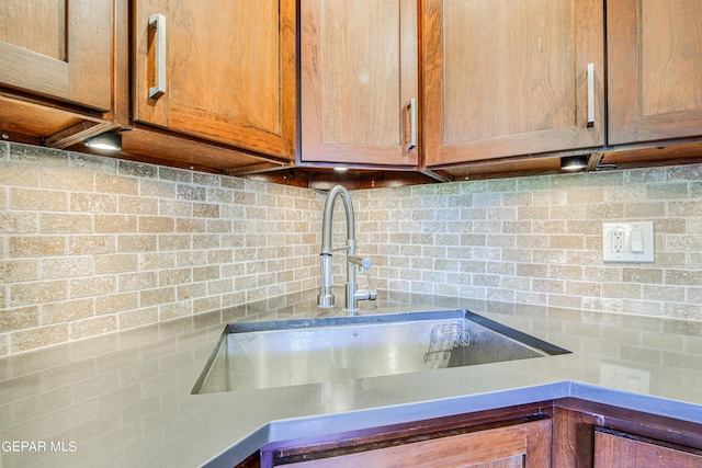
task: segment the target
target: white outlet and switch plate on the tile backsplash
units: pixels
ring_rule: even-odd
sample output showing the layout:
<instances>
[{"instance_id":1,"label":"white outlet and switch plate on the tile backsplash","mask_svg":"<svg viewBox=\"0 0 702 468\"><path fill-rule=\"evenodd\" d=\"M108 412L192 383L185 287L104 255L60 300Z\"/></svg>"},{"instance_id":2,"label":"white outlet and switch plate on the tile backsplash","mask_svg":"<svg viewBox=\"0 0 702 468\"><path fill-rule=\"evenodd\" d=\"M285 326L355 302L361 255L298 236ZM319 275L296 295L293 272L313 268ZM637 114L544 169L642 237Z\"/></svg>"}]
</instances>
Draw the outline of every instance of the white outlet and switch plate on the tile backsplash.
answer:
<instances>
[{"instance_id":1,"label":"white outlet and switch plate on the tile backsplash","mask_svg":"<svg viewBox=\"0 0 702 468\"><path fill-rule=\"evenodd\" d=\"M602 261L653 262L653 221L602 222Z\"/></svg>"}]
</instances>

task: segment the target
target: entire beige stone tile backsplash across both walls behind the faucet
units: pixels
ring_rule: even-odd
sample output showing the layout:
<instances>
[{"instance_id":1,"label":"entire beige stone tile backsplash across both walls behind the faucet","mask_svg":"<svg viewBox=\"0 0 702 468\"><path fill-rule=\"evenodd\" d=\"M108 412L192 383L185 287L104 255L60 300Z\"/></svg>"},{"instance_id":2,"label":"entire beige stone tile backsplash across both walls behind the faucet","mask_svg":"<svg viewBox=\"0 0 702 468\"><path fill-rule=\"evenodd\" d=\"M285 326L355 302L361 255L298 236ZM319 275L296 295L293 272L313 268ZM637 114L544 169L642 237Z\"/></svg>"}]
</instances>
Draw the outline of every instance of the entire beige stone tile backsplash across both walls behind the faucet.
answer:
<instances>
[{"instance_id":1,"label":"entire beige stone tile backsplash across both walls behind the faucet","mask_svg":"<svg viewBox=\"0 0 702 468\"><path fill-rule=\"evenodd\" d=\"M359 252L378 288L702 320L701 175L683 165L354 191ZM0 142L0 355L314 288L322 203L305 189ZM654 221L653 264L602 263L601 224L619 220Z\"/></svg>"}]
</instances>

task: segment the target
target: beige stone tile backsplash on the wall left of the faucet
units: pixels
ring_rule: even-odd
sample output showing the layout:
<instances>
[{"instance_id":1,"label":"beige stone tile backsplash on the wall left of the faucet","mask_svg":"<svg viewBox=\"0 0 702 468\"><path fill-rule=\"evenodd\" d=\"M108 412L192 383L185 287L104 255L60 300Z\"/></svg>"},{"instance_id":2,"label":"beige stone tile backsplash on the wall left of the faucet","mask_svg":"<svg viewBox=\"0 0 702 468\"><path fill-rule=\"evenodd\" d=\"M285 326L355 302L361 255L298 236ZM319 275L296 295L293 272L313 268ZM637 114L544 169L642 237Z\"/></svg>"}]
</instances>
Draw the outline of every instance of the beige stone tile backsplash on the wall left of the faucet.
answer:
<instances>
[{"instance_id":1,"label":"beige stone tile backsplash on the wall left of the faucet","mask_svg":"<svg viewBox=\"0 0 702 468\"><path fill-rule=\"evenodd\" d=\"M0 355L313 288L322 199L0 144Z\"/></svg>"}]
</instances>

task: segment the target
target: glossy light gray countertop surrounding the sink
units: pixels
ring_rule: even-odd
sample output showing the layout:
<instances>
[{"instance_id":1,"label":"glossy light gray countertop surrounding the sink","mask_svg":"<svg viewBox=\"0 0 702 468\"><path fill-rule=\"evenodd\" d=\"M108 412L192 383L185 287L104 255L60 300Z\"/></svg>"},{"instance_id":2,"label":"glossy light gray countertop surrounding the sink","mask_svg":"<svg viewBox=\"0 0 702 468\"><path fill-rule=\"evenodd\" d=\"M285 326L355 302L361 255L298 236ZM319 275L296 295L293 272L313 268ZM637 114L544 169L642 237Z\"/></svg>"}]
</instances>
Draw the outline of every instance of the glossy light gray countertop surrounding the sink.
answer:
<instances>
[{"instance_id":1,"label":"glossy light gray countertop surrounding the sink","mask_svg":"<svg viewBox=\"0 0 702 468\"><path fill-rule=\"evenodd\" d=\"M191 395L226 323L343 315L310 290L0 359L0 467L231 466L267 442L562 397L702 423L702 322L389 295L361 315L465 308L573 353Z\"/></svg>"}]
</instances>

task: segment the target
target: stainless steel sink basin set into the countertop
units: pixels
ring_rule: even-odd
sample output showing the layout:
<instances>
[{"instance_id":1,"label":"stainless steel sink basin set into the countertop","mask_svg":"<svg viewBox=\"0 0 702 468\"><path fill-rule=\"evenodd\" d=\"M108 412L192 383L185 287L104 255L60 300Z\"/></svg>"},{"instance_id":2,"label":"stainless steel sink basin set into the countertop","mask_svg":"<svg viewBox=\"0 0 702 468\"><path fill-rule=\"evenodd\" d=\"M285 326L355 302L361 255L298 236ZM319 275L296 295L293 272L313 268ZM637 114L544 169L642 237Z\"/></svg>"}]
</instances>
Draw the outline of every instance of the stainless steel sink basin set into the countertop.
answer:
<instances>
[{"instance_id":1,"label":"stainless steel sink basin set into the countertop","mask_svg":"<svg viewBox=\"0 0 702 468\"><path fill-rule=\"evenodd\" d=\"M193 393L287 387L568 353L465 309L230 323Z\"/></svg>"}]
</instances>

